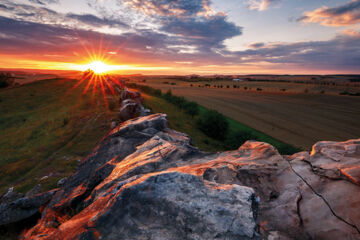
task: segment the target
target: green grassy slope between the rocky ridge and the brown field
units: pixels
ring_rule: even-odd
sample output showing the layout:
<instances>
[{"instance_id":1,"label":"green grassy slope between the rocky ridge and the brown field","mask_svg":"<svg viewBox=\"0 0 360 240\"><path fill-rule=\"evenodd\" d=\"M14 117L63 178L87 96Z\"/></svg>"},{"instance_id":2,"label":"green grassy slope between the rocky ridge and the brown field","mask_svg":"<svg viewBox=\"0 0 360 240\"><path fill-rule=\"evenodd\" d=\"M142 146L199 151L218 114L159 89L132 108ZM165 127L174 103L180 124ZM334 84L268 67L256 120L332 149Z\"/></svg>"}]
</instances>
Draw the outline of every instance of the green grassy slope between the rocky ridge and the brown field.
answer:
<instances>
[{"instance_id":1,"label":"green grassy slope between the rocky ridge and the brown field","mask_svg":"<svg viewBox=\"0 0 360 240\"><path fill-rule=\"evenodd\" d=\"M187 133L194 140L194 145L204 151L224 151L225 146L221 141L214 140L206 136L196 127L196 118L191 118L182 111L179 110L173 104L168 103L164 99L144 95L145 105L152 109L153 112L164 112L167 114L170 126L177 131ZM205 111L206 108L200 107L200 111ZM292 146L283 143L277 139L274 139L262 132L259 132L253 128L250 128L242 123L239 123L233 119L226 117L229 121L230 132L236 130L249 130L256 135L259 141L268 142L271 145L279 149L280 152L286 153L287 150L290 152L299 151Z\"/></svg>"}]
</instances>

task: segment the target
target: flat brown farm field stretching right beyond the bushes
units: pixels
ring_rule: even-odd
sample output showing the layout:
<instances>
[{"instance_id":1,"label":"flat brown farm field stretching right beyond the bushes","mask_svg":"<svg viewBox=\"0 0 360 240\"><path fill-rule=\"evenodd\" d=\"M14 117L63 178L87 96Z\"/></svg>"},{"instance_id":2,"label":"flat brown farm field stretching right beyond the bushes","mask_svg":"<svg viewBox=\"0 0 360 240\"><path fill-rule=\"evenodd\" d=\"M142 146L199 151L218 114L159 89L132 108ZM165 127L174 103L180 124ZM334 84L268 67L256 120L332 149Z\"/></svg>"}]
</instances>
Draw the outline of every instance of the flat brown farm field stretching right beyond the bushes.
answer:
<instances>
[{"instance_id":1,"label":"flat brown farm field stretching right beyond the bushes","mask_svg":"<svg viewBox=\"0 0 360 240\"><path fill-rule=\"evenodd\" d=\"M142 84L161 89L196 101L204 107L216 109L224 115L257 129L265 134L309 150L317 141L343 141L360 136L360 99L341 96L345 86L311 86L304 84L262 83L231 81L213 84L230 85L229 88L203 87L205 82L170 81L176 85L164 84L164 79L147 79ZM190 84L193 86L190 87ZM233 88L233 84L241 86ZM199 87L199 85L201 87ZM244 90L243 86L253 90ZM263 91L256 91L255 87ZM264 87L265 86L265 87ZM272 90L271 90L272 87ZM299 89L281 92L276 89ZM325 91L321 94L315 87ZM254 89L255 88L255 89ZM347 87L349 89L349 87ZM356 91L356 86L351 91Z\"/></svg>"}]
</instances>

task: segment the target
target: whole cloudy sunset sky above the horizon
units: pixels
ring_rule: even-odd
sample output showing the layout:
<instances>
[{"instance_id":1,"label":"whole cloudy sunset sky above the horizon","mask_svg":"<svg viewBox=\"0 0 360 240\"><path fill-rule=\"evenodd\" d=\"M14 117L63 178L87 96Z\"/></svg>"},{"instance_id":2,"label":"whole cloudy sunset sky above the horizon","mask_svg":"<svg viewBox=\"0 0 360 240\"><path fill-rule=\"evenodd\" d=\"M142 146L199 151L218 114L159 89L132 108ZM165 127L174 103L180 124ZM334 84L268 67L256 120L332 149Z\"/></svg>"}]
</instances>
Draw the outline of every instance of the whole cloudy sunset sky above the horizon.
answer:
<instances>
[{"instance_id":1,"label":"whole cloudy sunset sky above the horizon","mask_svg":"<svg viewBox=\"0 0 360 240\"><path fill-rule=\"evenodd\" d=\"M2 68L359 74L360 0L0 0Z\"/></svg>"}]
</instances>

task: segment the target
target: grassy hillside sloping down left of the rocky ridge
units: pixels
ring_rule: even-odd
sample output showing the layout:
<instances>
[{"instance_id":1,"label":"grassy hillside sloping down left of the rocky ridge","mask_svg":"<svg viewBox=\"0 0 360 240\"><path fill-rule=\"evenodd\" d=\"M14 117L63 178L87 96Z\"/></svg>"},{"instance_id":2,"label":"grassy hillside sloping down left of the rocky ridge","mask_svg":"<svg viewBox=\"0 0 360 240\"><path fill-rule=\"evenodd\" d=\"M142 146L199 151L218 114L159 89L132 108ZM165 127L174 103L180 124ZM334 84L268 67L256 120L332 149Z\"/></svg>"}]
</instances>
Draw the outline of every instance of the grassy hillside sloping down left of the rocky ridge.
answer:
<instances>
[{"instance_id":1,"label":"grassy hillside sloping down left of the rocky ridge","mask_svg":"<svg viewBox=\"0 0 360 240\"><path fill-rule=\"evenodd\" d=\"M0 91L0 193L56 187L109 131L115 113L76 80L52 79ZM40 180L43 176L50 176Z\"/></svg>"}]
</instances>

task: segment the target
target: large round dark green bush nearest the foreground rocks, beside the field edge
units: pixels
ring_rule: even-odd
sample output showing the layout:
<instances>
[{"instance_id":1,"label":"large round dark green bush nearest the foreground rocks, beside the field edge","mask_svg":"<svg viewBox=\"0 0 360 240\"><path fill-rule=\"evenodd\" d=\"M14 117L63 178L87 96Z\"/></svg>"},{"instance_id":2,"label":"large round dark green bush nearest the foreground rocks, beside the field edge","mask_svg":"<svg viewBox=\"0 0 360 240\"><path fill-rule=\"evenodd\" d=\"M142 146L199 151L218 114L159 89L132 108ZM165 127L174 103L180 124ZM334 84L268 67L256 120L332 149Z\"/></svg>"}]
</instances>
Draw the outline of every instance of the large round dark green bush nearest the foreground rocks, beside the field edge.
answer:
<instances>
[{"instance_id":1,"label":"large round dark green bush nearest the foreground rocks, beside the field edge","mask_svg":"<svg viewBox=\"0 0 360 240\"><path fill-rule=\"evenodd\" d=\"M224 115L215 110L201 113L197 125L206 135L219 140L225 139L229 130L229 123Z\"/></svg>"}]
</instances>

